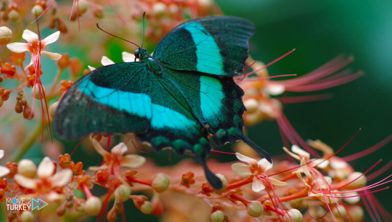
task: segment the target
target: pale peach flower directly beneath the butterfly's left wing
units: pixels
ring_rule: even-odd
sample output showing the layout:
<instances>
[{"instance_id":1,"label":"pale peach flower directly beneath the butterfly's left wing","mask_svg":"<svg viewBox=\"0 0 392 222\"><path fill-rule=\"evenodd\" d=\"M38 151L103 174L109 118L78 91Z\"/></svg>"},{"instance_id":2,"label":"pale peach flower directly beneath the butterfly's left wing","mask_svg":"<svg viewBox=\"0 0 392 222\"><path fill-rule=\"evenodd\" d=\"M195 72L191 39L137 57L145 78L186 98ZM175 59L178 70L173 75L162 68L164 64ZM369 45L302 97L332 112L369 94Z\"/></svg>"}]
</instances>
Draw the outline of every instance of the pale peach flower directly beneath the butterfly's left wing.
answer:
<instances>
[{"instance_id":1,"label":"pale peach flower directly beneath the butterfly's left wing","mask_svg":"<svg viewBox=\"0 0 392 222\"><path fill-rule=\"evenodd\" d=\"M135 154L129 154L122 156L128 151L128 147L124 142L118 143L111 150L111 153L105 151L101 144L95 139L91 138L92 145L94 146L96 152L98 152L105 160L102 166L90 166L90 170L100 170L106 168L113 168L117 166L126 166L129 168L138 168L145 162L145 158Z\"/></svg>"}]
</instances>

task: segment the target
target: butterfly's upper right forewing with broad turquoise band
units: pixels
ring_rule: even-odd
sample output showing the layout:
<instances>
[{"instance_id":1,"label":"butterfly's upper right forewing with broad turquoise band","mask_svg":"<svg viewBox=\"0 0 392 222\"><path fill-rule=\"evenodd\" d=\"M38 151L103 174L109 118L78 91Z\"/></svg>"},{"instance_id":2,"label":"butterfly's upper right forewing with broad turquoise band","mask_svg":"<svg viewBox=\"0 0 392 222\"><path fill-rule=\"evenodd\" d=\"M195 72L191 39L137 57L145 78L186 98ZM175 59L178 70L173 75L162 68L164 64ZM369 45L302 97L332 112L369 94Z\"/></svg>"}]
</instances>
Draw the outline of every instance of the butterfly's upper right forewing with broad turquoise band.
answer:
<instances>
[{"instance_id":1,"label":"butterfly's upper right forewing with broad turquoise band","mask_svg":"<svg viewBox=\"0 0 392 222\"><path fill-rule=\"evenodd\" d=\"M237 76L248 58L254 25L246 19L216 16L180 24L158 44L153 57L171 69Z\"/></svg>"}]
</instances>

